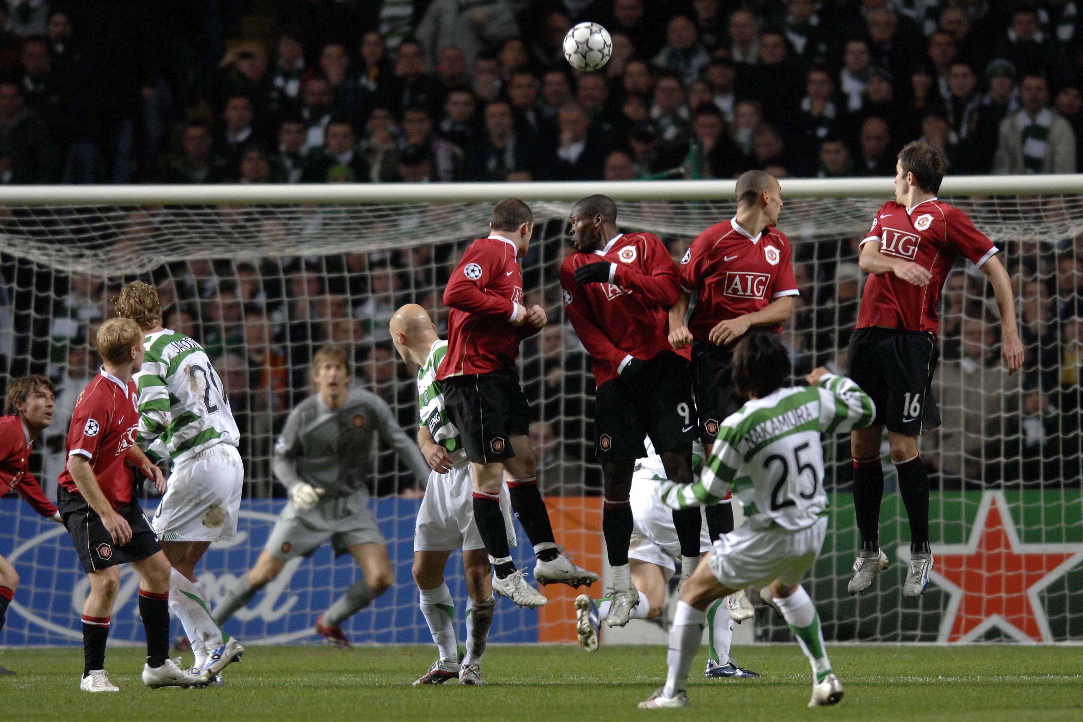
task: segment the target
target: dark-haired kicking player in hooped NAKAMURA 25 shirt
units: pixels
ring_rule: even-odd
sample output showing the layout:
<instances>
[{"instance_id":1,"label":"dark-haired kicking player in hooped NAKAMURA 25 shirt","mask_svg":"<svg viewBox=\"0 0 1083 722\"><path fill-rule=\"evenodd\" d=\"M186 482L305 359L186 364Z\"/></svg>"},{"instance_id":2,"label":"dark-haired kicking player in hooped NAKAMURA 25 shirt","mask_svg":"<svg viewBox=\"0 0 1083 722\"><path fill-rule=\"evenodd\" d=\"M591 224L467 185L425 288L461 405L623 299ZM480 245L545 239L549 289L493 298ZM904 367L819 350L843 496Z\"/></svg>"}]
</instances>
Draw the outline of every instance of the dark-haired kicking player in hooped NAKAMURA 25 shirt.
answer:
<instances>
[{"instance_id":1,"label":"dark-haired kicking player in hooped NAKAMURA 25 shirt","mask_svg":"<svg viewBox=\"0 0 1083 722\"><path fill-rule=\"evenodd\" d=\"M827 530L820 434L864 429L873 422L875 407L846 377L818 368L808 377L813 385L785 386L790 373L790 356L773 333L745 336L733 353L733 384L749 401L722 423L700 481L658 486L662 500L674 509L718 503L732 489L745 522L715 541L684 582L669 630L665 686L640 703L640 709L688 706L688 672L707 606L762 585L812 664L809 707L843 698L820 617L799 582Z\"/></svg>"}]
</instances>

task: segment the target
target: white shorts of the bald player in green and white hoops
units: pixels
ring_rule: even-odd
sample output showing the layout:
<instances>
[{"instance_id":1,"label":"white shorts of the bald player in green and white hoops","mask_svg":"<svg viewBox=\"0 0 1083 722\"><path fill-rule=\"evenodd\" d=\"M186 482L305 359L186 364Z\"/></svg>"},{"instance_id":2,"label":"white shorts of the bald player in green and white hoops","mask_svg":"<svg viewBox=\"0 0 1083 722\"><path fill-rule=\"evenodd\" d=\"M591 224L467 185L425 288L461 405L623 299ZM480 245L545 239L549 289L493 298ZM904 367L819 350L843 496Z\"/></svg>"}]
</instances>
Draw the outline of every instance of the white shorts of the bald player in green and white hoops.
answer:
<instances>
[{"instance_id":1,"label":"white shorts of the bald player in green and white hoops","mask_svg":"<svg viewBox=\"0 0 1083 722\"><path fill-rule=\"evenodd\" d=\"M508 544L516 546L516 526L511 521L511 501L507 485L500 486L500 510L508 530ZM473 521L473 485L470 464L452 467L446 474L429 473L425 498L417 510L414 526L414 551L471 551L484 549Z\"/></svg>"}]
</instances>

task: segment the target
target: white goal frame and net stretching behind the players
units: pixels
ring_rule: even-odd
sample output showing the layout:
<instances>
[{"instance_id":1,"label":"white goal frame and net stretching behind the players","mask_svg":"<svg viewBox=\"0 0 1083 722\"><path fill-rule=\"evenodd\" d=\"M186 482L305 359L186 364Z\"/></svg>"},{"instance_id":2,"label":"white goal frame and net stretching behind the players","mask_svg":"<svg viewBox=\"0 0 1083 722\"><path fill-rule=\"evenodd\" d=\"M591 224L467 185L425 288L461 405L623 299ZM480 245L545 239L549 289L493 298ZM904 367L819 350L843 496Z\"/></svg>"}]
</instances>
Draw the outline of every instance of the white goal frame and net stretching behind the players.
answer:
<instances>
[{"instance_id":1,"label":"white goal frame and net stretching behind the players","mask_svg":"<svg viewBox=\"0 0 1083 722\"><path fill-rule=\"evenodd\" d=\"M901 594L909 527L886 444L880 538L891 566L864 595L846 593L858 547L849 442L824 438L831 531L806 583L830 640L1083 639L1083 182L1051 176L1036 183L1044 185L1004 178L944 184L945 199L1002 249L1027 364L1022 373L1005 372L991 288L980 271L960 264L940 307L936 397L943 425L921 446L937 559L921 599ZM0 191L0 385L30 372L56 383L56 413L32 457L51 497L76 396L99 364L97 326L113 315L112 299L125 283L155 285L166 326L191 334L212 356L242 430L246 469L240 534L212 547L198 573L212 606L255 563L285 503L270 454L286 413L311 393L314 351L349 345L355 383L384 398L413 434L415 369L395 354L388 320L399 305L415 302L446 331L447 276L467 242L486 233L492 202L511 195L527 199L536 218L522 259L525 299L542 304L550 319L523 343L519 367L534 413L539 483L558 540L577 562L602 570L593 380L558 283L560 263L572 252L569 210L579 197L608 193L619 201L622 229L658 235L676 260L701 231L734 213L732 182ZM858 241L890 197L887 179L784 182L780 227L794 247L801 296L782 338L796 379L820 365L846 368L862 284ZM373 454L373 508L396 582L345 630L356 642L426 643L409 573L418 480L387 445ZM156 504L147 490L144 508L153 513ZM522 529L519 538L525 539ZM76 644L88 590L64 529L17 498L2 499L0 553L22 577L0 645ZM533 564L527 544L516 553L521 564ZM447 570L461 625L458 554ZM335 559L325 546L287 565L226 629L246 642L317 641L316 615L360 576L349 555ZM122 572L114 641L142 639L136 583ZM574 593L549 587L546 594L550 603L537 612L501 602L491 639L574 640ZM760 612L755 623L758 640L790 639L772 614Z\"/></svg>"}]
</instances>

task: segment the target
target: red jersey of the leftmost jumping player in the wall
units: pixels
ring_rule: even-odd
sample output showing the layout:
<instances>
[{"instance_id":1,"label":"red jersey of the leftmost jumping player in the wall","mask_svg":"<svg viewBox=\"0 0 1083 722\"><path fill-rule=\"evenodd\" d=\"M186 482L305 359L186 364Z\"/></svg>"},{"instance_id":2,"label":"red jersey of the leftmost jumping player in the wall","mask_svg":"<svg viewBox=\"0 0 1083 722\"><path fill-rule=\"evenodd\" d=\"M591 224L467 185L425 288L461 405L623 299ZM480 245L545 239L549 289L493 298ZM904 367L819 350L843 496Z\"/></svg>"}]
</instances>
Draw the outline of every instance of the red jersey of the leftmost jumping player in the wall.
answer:
<instances>
[{"instance_id":1,"label":"red jersey of the leftmost jumping player in the wall","mask_svg":"<svg viewBox=\"0 0 1083 722\"><path fill-rule=\"evenodd\" d=\"M523 274L516 245L499 235L470 244L444 288L447 354L436 380L466 373L513 369L519 342L538 329L511 325L517 303L523 302Z\"/></svg>"}]
</instances>

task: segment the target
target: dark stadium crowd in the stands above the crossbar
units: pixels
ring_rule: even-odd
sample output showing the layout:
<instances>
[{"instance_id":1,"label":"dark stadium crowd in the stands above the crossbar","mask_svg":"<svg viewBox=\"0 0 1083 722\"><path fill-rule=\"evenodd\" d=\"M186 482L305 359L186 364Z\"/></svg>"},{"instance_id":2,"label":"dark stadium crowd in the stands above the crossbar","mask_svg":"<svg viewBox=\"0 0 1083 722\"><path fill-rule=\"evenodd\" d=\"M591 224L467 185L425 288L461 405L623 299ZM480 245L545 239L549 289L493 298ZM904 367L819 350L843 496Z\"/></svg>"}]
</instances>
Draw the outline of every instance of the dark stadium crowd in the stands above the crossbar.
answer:
<instances>
[{"instance_id":1,"label":"dark stadium crowd in the stands above the crossbar","mask_svg":"<svg viewBox=\"0 0 1083 722\"><path fill-rule=\"evenodd\" d=\"M579 21L613 37L575 74ZM1073 0L0 2L3 183L1074 172Z\"/></svg>"}]
</instances>

